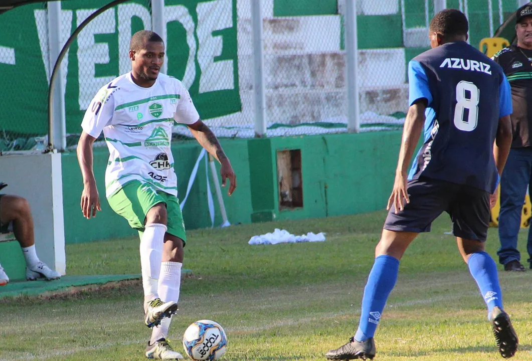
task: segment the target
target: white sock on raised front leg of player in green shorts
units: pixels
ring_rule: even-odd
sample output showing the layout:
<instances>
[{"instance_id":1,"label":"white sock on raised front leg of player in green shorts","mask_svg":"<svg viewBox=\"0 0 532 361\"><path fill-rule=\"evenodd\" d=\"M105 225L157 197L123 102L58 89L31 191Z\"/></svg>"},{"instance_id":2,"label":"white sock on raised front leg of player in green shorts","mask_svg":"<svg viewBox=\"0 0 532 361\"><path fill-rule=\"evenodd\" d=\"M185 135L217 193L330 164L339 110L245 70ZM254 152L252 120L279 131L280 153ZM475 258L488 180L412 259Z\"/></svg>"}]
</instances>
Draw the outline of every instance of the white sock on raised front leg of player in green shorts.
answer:
<instances>
[{"instance_id":1,"label":"white sock on raised front leg of player in green shorts","mask_svg":"<svg viewBox=\"0 0 532 361\"><path fill-rule=\"evenodd\" d=\"M157 282L161 272L161 259L163 256L164 233L167 226L160 223L146 224L146 229L140 239L140 268L142 269L142 286L144 300L157 297Z\"/></svg>"}]
</instances>

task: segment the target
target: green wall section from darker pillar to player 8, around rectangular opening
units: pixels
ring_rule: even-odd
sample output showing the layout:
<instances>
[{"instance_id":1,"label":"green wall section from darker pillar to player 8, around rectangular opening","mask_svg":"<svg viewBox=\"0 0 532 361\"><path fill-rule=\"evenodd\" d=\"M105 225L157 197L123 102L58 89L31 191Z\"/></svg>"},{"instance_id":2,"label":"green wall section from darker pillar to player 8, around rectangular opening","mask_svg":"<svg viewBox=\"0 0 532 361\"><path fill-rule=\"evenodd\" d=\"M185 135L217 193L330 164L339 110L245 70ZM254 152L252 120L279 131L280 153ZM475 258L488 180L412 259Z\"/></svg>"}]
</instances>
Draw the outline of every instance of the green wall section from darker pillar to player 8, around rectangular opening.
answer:
<instances>
[{"instance_id":1,"label":"green wall section from darker pillar to player 8, around rectangular opening","mask_svg":"<svg viewBox=\"0 0 532 361\"><path fill-rule=\"evenodd\" d=\"M257 142L256 140L250 141ZM375 211L392 189L401 132L261 139L248 146L252 221ZM301 149L303 207L279 210L277 152ZM268 172L273 169L274 172Z\"/></svg>"}]
</instances>

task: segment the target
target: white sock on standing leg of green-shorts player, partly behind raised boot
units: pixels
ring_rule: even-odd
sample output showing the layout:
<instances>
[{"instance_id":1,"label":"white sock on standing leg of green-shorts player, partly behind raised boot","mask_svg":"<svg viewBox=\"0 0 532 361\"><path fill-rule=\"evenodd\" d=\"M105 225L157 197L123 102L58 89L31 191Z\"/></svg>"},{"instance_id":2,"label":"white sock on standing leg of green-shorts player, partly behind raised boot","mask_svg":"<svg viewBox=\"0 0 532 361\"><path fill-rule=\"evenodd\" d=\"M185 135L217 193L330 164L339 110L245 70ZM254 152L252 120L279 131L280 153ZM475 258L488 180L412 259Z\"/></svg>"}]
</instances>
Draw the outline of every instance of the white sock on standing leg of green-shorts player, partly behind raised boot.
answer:
<instances>
[{"instance_id":1,"label":"white sock on standing leg of green-shorts player, partly behind raised boot","mask_svg":"<svg viewBox=\"0 0 532 361\"><path fill-rule=\"evenodd\" d=\"M179 287L181 286L180 262L163 262L161 264L161 275L159 277L159 297L163 302L179 301ZM170 329L171 318L163 318L160 326L156 326L152 331L152 344L161 339L167 338Z\"/></svg>"}]
</instances>

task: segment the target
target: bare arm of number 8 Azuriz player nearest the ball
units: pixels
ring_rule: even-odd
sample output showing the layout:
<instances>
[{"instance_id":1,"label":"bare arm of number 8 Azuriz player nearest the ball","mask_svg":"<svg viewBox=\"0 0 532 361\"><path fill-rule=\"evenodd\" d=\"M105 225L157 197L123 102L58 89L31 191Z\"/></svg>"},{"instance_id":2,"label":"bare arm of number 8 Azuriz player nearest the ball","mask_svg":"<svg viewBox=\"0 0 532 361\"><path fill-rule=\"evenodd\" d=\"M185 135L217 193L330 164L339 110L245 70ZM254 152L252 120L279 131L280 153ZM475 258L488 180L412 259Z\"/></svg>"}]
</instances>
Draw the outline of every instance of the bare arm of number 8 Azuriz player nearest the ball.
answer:
<instances>
[{"instance_id":1,"label":"bare arm of number 8 Azuriz player nearest the ball","mask_svg":"<svg viewBox=\"0 0 532 361\"><path fill-rule=\"evenodd\" d=\"M403 138L401 141L401 149L399 151L399 160L397 162L397 169L395 171L395 182L392 195L388 199L386 209L395 207L395 212L402 211L404 207L404 200L406 203L410 202L408 192L406 191L406 170L415 147L418 144L423 125L425 124L425 109L427 108L427 99L420 98L416 100L408 109L403 128Z\"/></svg>"}]
</instances>

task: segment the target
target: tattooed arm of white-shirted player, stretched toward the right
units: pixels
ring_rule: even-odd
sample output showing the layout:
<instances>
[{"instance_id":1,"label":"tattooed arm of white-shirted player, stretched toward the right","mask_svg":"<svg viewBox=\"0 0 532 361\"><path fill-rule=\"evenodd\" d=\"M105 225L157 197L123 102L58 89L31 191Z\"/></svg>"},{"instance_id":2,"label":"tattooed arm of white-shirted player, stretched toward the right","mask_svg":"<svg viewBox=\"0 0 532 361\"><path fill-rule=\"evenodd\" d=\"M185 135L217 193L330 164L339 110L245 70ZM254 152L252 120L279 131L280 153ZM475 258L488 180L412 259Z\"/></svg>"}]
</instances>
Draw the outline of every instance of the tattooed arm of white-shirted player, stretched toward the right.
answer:
<instances>
[{"instance_id":1,"label":"tattooed arm of white-shirted player, stretched toward the right","mask_svg":"<svg viewBox=\"0 0 532 361\"><path fill-rule=\"evenodd\" d=\"M215 157L221 164L220 175L222 177L222 187L226 186L226 179L229 179L229 191L230 196L236 189L236 175L232 170L231 162L229 158L223 153L222 146L218 141L218 138L214 135L212 130L207 127L201 120L193 124L188 124L188 129L192 132L192 135L200 145L207 150L213 157Z\"/></svg>"}]
</instances>

